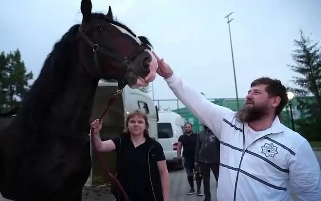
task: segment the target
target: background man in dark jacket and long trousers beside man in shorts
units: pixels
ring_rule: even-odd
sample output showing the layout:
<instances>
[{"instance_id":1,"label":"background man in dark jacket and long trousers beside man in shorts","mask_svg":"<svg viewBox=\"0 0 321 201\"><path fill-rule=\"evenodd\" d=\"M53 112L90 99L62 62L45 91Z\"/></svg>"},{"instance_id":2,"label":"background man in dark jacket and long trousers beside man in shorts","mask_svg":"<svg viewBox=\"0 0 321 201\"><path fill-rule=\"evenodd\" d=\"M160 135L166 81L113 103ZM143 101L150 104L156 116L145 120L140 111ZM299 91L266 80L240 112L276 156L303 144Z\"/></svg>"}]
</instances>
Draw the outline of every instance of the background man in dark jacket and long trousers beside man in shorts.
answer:
<instances>
[{"instance_id":1,"label":"background man in dark jacket and long trousers beside man in shorts","mask_svg":"<svg viewBox=\"0 0 321 201\"><path fill-rule=\"evenodd\" d=\"M199 166L203 175L204 201L211 201L210 169L212 169L217 187L219 170L219 140L214 133L204 125L204 130L197 136L195 150L195 166Z\"/></svg>"}]
</instances>

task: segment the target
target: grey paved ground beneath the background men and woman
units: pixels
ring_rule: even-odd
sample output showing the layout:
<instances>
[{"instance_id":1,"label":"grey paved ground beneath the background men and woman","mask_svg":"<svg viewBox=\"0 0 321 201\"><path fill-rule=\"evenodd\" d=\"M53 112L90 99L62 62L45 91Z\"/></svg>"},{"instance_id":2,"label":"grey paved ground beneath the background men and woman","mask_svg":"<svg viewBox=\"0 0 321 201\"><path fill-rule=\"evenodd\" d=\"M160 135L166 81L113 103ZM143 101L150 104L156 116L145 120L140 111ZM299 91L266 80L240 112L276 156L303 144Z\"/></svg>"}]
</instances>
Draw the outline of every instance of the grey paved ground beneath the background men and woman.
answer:
<instances>
[{"instance_id":1,"label":"grey paved ground beneath the background men and woman","mask_svg":"<svg viewBox=\"0 0 321 201\"><path fill-rule=\"evenodd\" d=\"M321 166L321 151L315 152L316 157ZM189 190L189 185L186 178L185 170L170 170L171 177L171 201L203 201L203 197L198 197L196 194L187 195L187 191ZM212 201L216 200L216 183L214 180L214 175L211 173L211 194ZM196 188L196 183L194 183L194 187ZM203 189L203 184L202 187ZM295 195L292 196L293 201L298 201ZM0 201L9 201L4 198L1 198ZM83 201L113 201L113 196L107 194L105 190L97 190L97 188L88 187L83 192Z\"/></svg>"}]
</instances>

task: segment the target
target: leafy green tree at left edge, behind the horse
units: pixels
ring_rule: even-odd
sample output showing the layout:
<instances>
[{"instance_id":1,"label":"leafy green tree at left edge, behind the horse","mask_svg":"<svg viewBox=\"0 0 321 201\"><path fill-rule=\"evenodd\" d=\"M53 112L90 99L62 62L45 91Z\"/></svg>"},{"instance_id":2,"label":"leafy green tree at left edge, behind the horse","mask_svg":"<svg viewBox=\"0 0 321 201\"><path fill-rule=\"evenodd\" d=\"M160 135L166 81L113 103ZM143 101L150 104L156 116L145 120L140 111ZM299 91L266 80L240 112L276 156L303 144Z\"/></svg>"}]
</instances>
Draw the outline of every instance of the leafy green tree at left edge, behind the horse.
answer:
<instances>
[{"instance_id":1,"label":"leafy green tree at left edge, behind the horse","mask_svg":"<svg viewBox=\"0 0 321 201\"><path fill-rule=\"evenodd\" d=\"M21 60L19 49L13 53L0 54L0 112L8 112L19 107L24 94L30 88L29 80L33 79L32 72L27 73Z\"/></svg>"}]
</instances>

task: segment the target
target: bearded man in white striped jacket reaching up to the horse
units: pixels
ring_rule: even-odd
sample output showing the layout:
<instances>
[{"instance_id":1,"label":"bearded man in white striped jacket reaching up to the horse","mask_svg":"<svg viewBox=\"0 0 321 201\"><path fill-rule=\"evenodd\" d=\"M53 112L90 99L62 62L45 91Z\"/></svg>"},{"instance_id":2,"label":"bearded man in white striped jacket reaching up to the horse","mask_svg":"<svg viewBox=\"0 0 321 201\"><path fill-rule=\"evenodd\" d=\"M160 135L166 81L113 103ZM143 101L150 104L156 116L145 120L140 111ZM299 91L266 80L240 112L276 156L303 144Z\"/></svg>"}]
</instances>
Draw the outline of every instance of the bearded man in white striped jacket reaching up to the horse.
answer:
<instances>
[{"instance_id":1,"label":"bearded man in white striped jacket reaching up to the horse","mask_svg":"<svg viewBox=\"0 0 321 201\"><path fill-rule=\"evenodd\" d=\"M278 115L287 104L279 80L252 82L237 112L208 101L173 73L164 60L157 73L220 140L218 201L321 201L321 170L308 141L284 126Z\"/></svg>"}]
</instances>

